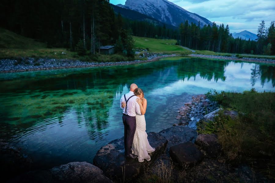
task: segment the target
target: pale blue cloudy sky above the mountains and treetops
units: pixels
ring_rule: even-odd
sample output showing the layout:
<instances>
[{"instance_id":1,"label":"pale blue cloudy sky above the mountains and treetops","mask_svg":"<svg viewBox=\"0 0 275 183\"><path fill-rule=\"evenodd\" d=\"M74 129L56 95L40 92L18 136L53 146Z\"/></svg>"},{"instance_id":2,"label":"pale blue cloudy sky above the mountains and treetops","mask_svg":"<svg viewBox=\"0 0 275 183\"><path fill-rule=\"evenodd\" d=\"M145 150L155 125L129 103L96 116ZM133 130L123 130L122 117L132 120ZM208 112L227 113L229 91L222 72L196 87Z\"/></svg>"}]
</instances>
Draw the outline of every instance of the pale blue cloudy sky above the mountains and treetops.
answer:
<instances>
[{"instance_id":1,"label":"pale blue cloudy sky above the mountains and treetops","mask_svg":"<svg viewBox=\"0 0 275 183\"><path fill-rule=\"evenodd\" d=\"M148 0L149 1L149 0ZM248 30L257 34L258 26L266 27L275 20L275 0L169 0L217 25L228 24L230 32ZM126 0L110 0L112 4L125 4Z\"/></svg>"}]
</instances>

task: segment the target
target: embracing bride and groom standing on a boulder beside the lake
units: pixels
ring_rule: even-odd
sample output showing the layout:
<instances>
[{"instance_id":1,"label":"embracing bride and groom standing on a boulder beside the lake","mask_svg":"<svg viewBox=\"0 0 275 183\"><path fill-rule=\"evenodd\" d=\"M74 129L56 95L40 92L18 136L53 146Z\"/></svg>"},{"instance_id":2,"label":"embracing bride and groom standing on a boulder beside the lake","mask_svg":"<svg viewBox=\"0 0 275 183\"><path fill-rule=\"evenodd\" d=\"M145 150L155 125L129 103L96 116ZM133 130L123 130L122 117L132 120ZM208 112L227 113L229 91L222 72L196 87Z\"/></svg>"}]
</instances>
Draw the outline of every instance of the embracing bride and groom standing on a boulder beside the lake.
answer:
<instances>
[{"instance_id":1,"label":"embracing bride and groom standing on a boulder beside the lake","mask_svg":"<svg viewBox=\"0 0 275 183\"><path fill-rule=\"evenodd\" d=\"M155 148L150 146L145 131L147 100L142 89L134 83L131 84L129 93L120 99L120 108L123 109L125 156L138 158L139 162L150 161L149 153L154 152Z\"/></svg>"}]
</instances>

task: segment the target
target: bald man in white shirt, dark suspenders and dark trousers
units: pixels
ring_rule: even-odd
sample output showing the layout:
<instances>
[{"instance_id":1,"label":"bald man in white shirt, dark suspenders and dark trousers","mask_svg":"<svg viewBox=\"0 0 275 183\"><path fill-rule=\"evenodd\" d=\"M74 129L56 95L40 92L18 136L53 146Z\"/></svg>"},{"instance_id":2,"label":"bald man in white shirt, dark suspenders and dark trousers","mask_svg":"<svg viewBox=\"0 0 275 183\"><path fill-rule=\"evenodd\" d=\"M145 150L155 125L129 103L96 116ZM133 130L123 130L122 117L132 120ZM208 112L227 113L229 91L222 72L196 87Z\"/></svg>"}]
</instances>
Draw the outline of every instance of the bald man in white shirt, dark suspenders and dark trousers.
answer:
<instances>
[{"instance_id":1,"label":"bald man in white shirt, dark suspenders and dark trousers","mask_svg":"<svg viewBox=\"0 0 275 183\"><path fill-rule=\"evenodd\" d=\"M126 93L120 99L120 108L123 109L125 156L132 159L138 157L132 154L132 145L136 131L136 113L141 115L140 107L136 101L138 97L134 95L136 88L138 88L136 84L131 84L129 93ZM125 108L122 108L123 102L126 102Z\"/></svg>"}]
</instances>

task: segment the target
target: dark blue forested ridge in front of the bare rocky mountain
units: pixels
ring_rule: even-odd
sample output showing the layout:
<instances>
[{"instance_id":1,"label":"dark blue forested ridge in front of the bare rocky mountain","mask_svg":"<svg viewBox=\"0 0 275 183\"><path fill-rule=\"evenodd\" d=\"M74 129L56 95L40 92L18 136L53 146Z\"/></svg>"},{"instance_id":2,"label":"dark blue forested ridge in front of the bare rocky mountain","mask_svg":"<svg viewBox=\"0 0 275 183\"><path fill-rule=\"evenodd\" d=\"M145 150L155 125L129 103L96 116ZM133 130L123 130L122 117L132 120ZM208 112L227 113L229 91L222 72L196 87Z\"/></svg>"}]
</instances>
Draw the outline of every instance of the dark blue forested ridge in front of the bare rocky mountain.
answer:
<instances>
[{"instance_id":1,"label":"dark blue forested ridge in front of the bare rocky mountain","mask_svg":"<svg viewBox=\"0 0 275 183\"><path fill-rule=\"evenodd\" d=\"M157 26L163 26L165 24L165 27L168 29L174 29L174 30L177 29L177 27L175 27L171 24L163 23L159 20L156 20L148 15L139 13L137 11L134 11L131 9L126 9L126 8L121 8L121 7L113 5L113 4L111 4L111 6L116 13L120 13L121 16L123 16L124 18L130 19L130 20L147 21L147 22L153 23Z\"/></svg>"}]
</instances>

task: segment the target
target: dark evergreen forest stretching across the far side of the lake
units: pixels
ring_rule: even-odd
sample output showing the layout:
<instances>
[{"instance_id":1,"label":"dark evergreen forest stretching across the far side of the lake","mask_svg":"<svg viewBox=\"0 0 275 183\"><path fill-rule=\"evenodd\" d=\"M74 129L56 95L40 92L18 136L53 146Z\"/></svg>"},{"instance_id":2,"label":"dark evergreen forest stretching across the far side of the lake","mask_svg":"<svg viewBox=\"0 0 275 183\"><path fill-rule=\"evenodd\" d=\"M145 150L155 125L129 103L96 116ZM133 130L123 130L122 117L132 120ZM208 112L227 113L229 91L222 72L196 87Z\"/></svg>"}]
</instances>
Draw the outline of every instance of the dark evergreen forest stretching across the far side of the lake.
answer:
<instances>
[{"instance_id":1,"label":"dark evergreen forest stretching across the far side of the lake","mask_svg":"<svg viewBox=\"0 0 275 183\"><path fill-rule=\"evenodd\" d=\"M175 44L197 50L227 53L275 54L274 21L262 21L256 41L233 38L229 25L196 25L186 20L178 28L149 21L129 20L112 8L109 0L3 0L1 27L46 42L49 48L69 48L79 54L100 52L115 45L116 52L133 56L133 36L175 39Z\"/></svg>"}]
</instances>

